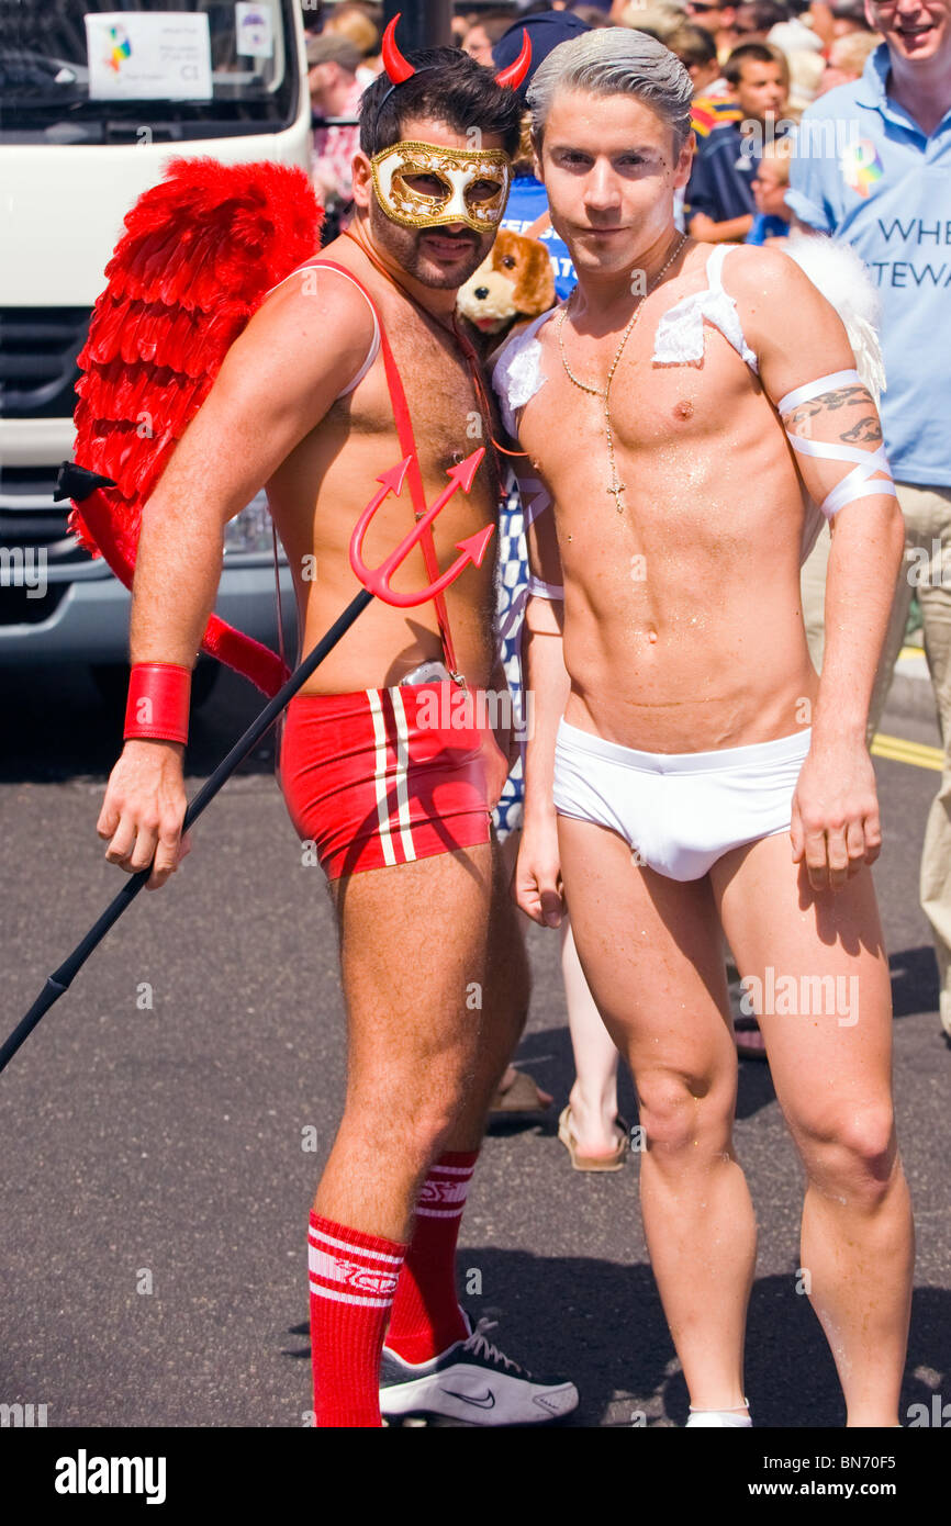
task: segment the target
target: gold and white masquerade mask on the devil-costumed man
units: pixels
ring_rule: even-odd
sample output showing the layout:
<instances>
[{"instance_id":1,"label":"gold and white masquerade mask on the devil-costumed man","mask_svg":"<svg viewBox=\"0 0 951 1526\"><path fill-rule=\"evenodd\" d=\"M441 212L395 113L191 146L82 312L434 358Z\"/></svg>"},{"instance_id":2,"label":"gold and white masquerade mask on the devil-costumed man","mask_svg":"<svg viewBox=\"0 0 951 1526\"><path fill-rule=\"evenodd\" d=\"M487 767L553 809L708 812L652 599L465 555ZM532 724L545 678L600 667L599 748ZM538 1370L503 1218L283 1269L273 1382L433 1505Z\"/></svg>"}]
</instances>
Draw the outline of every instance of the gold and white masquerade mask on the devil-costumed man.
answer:
<instances>
[{"instance_id":1,"label":"gold and white masquerade mask on the devil-costumed man","mask_svg":"<svg viewBox=\"0 0 951 1526\"><path fill-rule=\"evenodd\" d=\"M501 148L401 142L382 148L369 165L377 201L403 227L467 223L476 233L490 233L502 220L511 160ZM408 185L415 175L434 177L440 189L424 192Z\"/></svg>"}]
</instances>

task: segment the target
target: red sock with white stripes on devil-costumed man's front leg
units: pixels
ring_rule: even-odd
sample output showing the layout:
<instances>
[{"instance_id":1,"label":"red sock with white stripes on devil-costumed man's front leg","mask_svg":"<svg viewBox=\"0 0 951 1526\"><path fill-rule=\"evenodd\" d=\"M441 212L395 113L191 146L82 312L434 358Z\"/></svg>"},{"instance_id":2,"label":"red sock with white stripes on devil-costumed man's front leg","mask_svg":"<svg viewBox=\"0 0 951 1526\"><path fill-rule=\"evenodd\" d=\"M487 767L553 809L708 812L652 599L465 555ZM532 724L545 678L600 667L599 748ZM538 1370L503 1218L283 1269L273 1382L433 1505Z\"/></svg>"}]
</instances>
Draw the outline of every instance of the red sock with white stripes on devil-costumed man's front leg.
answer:
<instances>
[{"instance_id":1,"label":"red sock with white stripes on devil-costumed man's front leg","mask_svg":"<svg viewBox=\"0 0 951 1526\"><path fill-rule=\"evenodd\" d=\"M382 1425L380 1352L406 1245L310 1215L310 1357L318 1425Z\"/></svg>"}]
</instances>

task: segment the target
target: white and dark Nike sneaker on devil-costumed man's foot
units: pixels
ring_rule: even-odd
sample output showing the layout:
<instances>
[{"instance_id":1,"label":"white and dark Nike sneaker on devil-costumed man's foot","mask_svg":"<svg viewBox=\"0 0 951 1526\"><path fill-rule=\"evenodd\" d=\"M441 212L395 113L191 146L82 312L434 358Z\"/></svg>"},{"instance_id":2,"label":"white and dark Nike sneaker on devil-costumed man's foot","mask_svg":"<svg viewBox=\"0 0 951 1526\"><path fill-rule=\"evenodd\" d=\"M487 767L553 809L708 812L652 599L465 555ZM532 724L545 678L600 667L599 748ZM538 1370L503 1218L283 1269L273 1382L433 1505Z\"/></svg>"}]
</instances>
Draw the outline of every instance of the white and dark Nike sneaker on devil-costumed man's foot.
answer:
<instances>
[{"instance_id":1,"label":"white and dark Nike sneaker on devil-costumed man's foot","mask_svg":"<svg viewBox=\"0 0 951 1526\"><path fill-rule=\"evenodd\" d=\"M571 1415L579 1390L563 1380L533 1378L530 1372L485 1340L493 1320L479 1320L459 1340L429 1361L403 1361L383 1346L380 1410L388 1421L435 1418L469 1425L543 1425Z\"/></svg>"}]
</instances>

